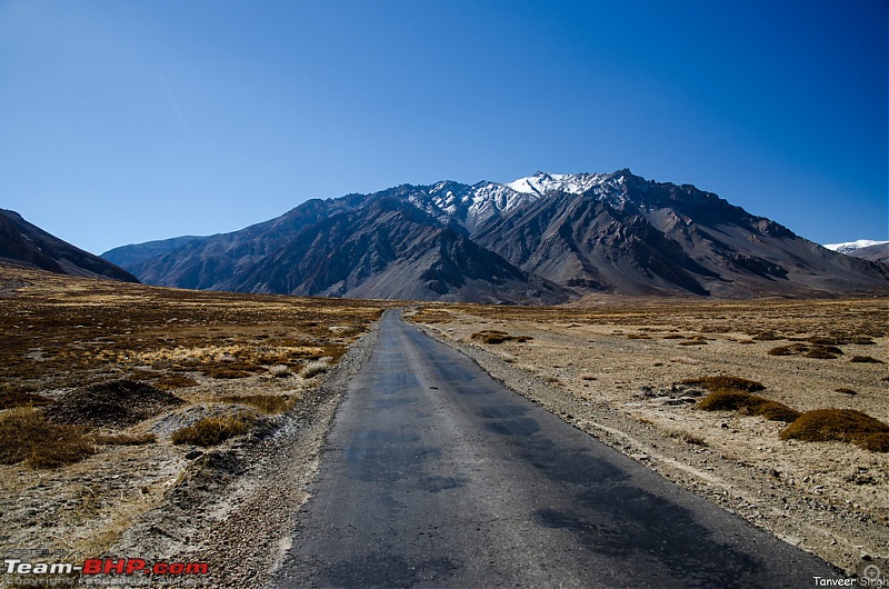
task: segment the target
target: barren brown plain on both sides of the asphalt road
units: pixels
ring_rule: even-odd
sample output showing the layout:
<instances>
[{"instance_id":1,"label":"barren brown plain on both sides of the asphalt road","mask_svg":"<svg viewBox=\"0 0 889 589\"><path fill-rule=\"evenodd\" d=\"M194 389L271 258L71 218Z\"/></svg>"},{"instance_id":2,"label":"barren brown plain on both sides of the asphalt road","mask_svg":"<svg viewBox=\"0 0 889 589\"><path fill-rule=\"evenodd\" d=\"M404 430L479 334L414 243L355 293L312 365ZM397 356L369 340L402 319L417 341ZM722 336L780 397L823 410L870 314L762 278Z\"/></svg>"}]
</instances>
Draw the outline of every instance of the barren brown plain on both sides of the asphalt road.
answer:
<instances>
[{"instance_id":1,"label":"barren brown plain on both sides of the asphalt road","mask_svg":"<svg viewBox=\"0 0 889 589\"><path fill-rule=\"evenodd\" d=\"M9 266L0 301L0 552L207 561L212 587L267 586L373 323L407 305ZM698 408L722 376L790 410L888 422L887 299L423 303L412 319L577 428L849 572L889 556L889 455L783 440L787 422L747 406Z\"/></svg>"}]
</instances>

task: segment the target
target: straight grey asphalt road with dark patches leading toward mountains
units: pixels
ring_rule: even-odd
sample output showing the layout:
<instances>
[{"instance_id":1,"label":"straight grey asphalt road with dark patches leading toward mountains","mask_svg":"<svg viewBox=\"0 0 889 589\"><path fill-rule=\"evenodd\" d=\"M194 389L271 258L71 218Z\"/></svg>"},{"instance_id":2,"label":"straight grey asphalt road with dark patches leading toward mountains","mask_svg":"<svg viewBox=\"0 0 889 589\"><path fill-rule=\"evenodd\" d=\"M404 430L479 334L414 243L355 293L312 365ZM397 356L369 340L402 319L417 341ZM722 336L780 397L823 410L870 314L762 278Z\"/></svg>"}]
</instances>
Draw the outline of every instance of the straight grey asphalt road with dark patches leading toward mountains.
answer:
<instances>
[{"instance_id":1,"label":"straight grey asphalt road with dark patches leading toward mountains","mask_svg":"<svg viewBox=\"0 0 889 589\"><path fill-rule=\"evenodd\" d=\"M277 587L813 587L822 560L596 441L388 312Z\"/></svg>"}]
</instances>

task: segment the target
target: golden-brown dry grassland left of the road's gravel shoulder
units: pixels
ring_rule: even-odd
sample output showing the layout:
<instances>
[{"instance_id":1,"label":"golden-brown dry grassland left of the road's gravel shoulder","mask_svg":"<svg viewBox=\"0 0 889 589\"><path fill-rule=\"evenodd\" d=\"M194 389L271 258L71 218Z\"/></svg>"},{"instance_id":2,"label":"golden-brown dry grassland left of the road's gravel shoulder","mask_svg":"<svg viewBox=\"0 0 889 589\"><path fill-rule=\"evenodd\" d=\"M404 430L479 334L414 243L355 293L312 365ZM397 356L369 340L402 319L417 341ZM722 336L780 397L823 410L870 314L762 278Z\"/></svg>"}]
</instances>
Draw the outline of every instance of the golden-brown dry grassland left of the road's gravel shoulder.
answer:
<instances>
[{"instance_id":1,"label":"golden-brown dry grassland left of the road's gravel shoulder","mask_svg":"<svg viewBox=\"0 0 889 589\"><path fill-rule=\"evenodd\" d=\"M207 447L299 409L382 308L0 264L0 552L103 553Z\"/></svg>"}]
</instances>

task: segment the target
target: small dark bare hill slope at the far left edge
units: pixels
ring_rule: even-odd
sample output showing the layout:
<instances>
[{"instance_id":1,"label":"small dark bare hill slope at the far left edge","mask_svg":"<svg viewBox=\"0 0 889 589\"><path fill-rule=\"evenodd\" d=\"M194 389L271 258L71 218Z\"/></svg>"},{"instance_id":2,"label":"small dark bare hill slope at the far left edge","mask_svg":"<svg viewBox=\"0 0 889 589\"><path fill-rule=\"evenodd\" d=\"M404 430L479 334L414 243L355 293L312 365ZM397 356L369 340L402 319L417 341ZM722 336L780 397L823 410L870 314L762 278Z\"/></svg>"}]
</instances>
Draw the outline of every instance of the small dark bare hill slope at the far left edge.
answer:
<instances>
[{"instance_id":1,"label":"small dark bare hill slope at the far left edge","mask_svg":"<svg viewBox=\"0 0 889 589\"><path fill-rule=\"evenodd\" d=\"M14 211L0 209L0 261L60 274L139 280L113 263L47 233Z\"/></svg>"}]
</instances>

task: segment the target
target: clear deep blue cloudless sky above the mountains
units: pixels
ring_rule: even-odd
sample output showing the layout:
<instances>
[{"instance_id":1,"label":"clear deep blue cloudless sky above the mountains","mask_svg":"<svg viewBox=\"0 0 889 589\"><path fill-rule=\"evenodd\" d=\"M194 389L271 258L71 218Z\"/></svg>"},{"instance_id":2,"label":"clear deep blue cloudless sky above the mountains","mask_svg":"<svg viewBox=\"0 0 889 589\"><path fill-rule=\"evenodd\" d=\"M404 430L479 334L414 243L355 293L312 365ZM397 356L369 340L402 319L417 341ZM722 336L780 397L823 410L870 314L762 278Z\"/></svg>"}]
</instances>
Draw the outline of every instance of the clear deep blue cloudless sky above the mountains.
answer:
<instances>
[{"instance_id":1,"label":"clear deep blue cloudless sky above the mountains","mask_svg":"<svg viewBox=\"0 0 889 589\"><path fill-rule=\"evenodd\" d=\"M0 0L0 208L92 252L629 167L889 239L887 0Z\"/></svg>"}]
</instances>

